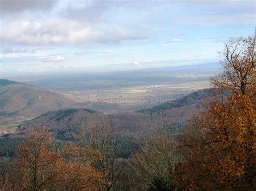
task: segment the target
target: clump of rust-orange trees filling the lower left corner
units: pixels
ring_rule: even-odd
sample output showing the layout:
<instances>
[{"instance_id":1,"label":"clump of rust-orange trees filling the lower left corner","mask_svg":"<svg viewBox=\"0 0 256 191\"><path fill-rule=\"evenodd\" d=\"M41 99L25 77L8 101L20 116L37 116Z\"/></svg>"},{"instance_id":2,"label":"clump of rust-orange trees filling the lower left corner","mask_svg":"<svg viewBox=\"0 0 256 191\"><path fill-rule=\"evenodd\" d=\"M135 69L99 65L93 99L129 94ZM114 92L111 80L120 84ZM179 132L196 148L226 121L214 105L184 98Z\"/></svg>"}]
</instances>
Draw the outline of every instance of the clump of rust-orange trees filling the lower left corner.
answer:
<instances>
[{"instance_id":1,"label":"clump of rust-orange trees filling the lower left corner","mask_svg":"<svg viewBox=\"0 0 256 191\"><path fill-rule=\"evenodd\" d=\"M1 183L3 190L98 190L102 173L91 165L100 153L66 143L57 150L50 133L32 129L17 147L17 161L11 163Z\"/></svg>"}]
</instances>

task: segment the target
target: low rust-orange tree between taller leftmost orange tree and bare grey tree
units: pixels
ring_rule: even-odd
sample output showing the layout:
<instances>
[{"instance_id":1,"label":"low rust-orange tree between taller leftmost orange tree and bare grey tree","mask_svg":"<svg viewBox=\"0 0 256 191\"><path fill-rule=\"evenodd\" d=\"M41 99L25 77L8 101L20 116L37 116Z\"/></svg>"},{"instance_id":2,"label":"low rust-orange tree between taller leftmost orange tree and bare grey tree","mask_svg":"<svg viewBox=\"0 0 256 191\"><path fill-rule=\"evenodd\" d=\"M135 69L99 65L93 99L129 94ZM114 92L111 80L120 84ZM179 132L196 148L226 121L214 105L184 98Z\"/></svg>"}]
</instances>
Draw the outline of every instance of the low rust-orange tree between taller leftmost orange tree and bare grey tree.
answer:
<instances>
[{"instance_id":1,"label":"low rust-orange tree between taller leftmost orange tree and bare grey tree","mask_svg":"<svg viewBox=\"0 0 256 191\"><path fill-rule=\"evenodd\" d=\"M95 160L102 160L97 150L66 143L60 152L65 163L62 190L98 190L104 183L104 175L93 167Z\"/></svg>"}]
</instances>

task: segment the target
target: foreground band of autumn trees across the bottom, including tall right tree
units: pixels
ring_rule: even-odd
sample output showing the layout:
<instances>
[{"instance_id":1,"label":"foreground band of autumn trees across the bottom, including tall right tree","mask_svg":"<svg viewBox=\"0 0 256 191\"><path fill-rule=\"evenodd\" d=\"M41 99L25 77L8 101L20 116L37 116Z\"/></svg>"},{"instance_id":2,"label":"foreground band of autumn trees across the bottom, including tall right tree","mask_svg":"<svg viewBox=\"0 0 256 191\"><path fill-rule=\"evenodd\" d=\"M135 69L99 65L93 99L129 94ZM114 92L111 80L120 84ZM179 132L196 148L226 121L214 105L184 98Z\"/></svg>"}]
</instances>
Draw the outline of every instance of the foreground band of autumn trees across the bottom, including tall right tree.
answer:
<instances>
[{"instance_id":1,"label":"foreground band of autumn trees across the bottom, including tall right tree","mask_svg":"<svg viewBox=\"0 0 256 191\"><path fill-rule=\"evenodd\" d=\"M1 189L255 190L255 38L230 39L221 55L214 96L183 132L120 139L109 118L91 116L56 147L47 130L31 129L15 157L2 160Z\"/></svg>"}]
</instances>

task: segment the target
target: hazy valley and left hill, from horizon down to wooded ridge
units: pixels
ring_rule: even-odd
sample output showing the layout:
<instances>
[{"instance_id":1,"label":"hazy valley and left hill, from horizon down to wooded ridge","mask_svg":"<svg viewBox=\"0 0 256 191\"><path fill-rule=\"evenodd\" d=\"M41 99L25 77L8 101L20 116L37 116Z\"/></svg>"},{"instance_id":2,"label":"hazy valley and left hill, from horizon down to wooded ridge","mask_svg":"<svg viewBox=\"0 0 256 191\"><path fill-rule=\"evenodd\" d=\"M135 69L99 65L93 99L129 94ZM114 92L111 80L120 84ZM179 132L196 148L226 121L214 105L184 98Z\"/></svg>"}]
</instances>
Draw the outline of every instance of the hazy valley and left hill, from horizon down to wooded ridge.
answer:
<instances>
[{"instance_id":1,"label":"hazy valley and left hill, from horizon down to wooded ridge","mask_svg":"<svg viewBox=\"0 0 256 191\"><path fill-rule=\"evenodd\" d=\"M206 63L117 73L1 80L0 136L47 111L90 108L105 114L133 112L209 88L219 65Z\"/></svg>"}]
</instances>

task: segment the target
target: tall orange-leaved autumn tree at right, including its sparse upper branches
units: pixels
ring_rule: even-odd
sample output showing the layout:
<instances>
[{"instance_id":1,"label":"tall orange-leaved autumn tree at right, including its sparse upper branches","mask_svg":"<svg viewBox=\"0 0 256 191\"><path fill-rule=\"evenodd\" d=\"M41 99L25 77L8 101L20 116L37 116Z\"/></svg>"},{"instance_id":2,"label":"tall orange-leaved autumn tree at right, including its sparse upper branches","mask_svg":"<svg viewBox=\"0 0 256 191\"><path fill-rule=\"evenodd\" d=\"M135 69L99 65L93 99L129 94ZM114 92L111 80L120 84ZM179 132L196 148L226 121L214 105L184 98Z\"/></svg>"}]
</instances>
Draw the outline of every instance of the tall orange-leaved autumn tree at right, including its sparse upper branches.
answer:
<instances>
[{"instance_id":1,"label":"tall orange-leaved autumn tree at right, including its sparse upper branches","mask_svg":"<svg viewBox=\"0 0 256 191\"><path fill-rule=\"evenodd\" d=\"M186 160L173 176L180 188L255 190L254 47L253 37L225 43L224 73L212 79L221 94L183 136Z\"/></svg>"}]
</instances>

